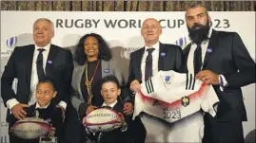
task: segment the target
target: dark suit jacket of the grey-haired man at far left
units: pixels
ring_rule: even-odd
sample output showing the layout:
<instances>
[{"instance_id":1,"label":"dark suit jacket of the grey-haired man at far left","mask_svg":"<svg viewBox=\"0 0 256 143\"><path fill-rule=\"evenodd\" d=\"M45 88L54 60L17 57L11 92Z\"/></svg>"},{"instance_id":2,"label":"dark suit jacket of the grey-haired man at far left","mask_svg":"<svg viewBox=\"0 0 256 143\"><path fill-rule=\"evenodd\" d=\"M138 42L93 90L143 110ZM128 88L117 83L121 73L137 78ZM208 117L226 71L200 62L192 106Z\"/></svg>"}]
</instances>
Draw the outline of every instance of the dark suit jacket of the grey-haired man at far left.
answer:
<instances>
[{"instance_id":1,"label":"dark suit jacket of the grey-haired man at far left","mask_svg":"<svg viewBox=\"0 0 256 143\"><path fill-rule=\"evenodd\" d=\"M1 97L5 105L10 98L16 98L21 103L29 103L34 49L34 45L17 46L12 52L1 78ZM46 76L55 80L57 86L57 98L52 102L57 104L64 100L68 104L73 70L71 52L60 46L50 45L45 70ZM11 89L14 78L18 79L17 94Z\"/></svg>"}]
</instances>

